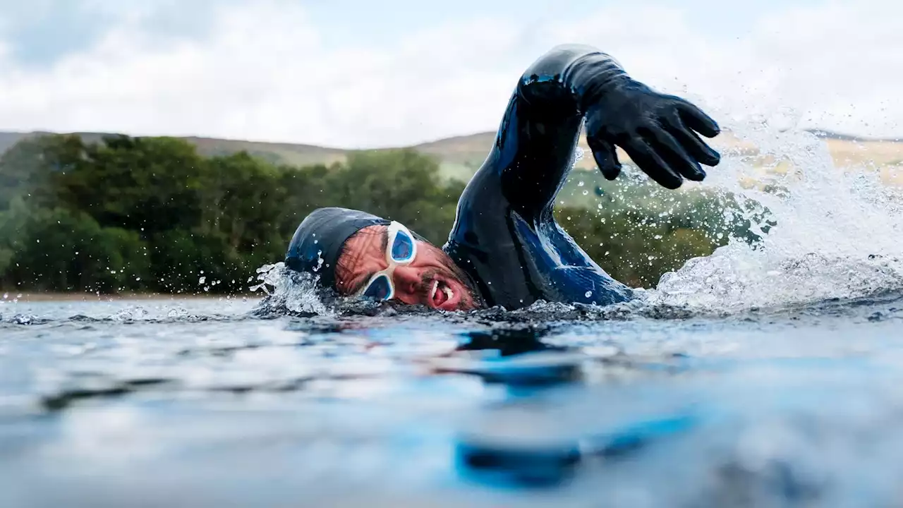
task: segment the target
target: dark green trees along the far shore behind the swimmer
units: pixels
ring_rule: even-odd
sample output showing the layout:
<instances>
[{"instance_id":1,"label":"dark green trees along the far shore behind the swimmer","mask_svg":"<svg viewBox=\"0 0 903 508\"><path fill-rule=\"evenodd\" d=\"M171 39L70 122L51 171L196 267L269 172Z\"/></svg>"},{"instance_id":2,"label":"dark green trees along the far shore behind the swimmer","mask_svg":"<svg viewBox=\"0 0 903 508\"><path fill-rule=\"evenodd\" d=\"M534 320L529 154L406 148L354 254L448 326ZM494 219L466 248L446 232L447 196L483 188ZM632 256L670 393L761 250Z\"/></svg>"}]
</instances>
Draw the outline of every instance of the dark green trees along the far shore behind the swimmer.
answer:
<instances>
[{"instance_id":1,"label":"dark green trees along the far shore behind the swimmer","mask_svg":"<svg viewBox=\"0 0 903 508\"><path fill-rule=\"evenodd\" d=\"M723 220L723 196L672 194L668 203L644 195L654 192L647 183L598 179L587 197L572 180L559 221L632 286L654 286L743 230ZM463 188L411 149L296 167L247 153L206 157L172 137L29 138L0 157L0 289L245 292L315 208L373 212L442 245Z\"/></svg>"}]
</instances>

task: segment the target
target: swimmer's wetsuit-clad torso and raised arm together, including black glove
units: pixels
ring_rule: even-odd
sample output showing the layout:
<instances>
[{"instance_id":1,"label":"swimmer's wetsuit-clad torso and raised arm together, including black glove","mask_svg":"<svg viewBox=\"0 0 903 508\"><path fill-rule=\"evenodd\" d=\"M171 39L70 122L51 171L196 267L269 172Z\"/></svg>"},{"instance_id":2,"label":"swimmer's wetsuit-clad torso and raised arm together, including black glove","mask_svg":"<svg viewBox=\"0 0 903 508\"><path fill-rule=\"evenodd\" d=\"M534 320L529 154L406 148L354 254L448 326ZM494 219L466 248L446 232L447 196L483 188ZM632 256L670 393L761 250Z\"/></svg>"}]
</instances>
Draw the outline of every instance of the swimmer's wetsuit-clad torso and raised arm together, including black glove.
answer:
<instances>
[{"instance_id":1,"label":"swimmer's wetsuit-clad torso and raised arm together, including black glove","mask_svg":"<svg viewBox=\"0 0 903 508\"><path fill-rule=\"evenodd\" d=\"M700 163L718 164L719 155L694 132L718 134L699 108L632 80L590 47L547 52L518 80L443 248L489 305L518 308L540 298L607 305L629 297L552 214L584 121L592 155L610 180L620 171L615 146L672 189L684 178L702 180Z\"/></svg>"}]
</instances>

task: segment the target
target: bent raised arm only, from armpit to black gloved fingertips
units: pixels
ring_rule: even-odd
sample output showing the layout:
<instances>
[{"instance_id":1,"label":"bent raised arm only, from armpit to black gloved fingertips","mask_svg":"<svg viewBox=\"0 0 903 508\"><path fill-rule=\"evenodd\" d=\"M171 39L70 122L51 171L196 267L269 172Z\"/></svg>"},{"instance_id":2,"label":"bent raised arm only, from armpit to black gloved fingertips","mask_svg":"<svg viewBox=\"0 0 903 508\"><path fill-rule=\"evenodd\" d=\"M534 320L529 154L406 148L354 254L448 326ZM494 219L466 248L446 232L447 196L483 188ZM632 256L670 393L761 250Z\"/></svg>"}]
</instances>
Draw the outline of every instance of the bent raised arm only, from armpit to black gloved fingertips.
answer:
<instances>
[{"instance_id":1,"label":"bent raised arm only, from armpit to black gloved fingertips","mask_svg":"<svg viewBox=\"0 0 903 508\"><path fill-rule=\"evenodd\" d=\"M684 177L702 180L699 163L719 161L694 133L719 131L699 108L632 80L608 54L564 45L545 53L518 81L495 145L462 201L502 199L526 221L548 216L573 165L584 118L593 156L610 180L620 170L616 145L672 189Z\"/></svg>"}]
</instances>

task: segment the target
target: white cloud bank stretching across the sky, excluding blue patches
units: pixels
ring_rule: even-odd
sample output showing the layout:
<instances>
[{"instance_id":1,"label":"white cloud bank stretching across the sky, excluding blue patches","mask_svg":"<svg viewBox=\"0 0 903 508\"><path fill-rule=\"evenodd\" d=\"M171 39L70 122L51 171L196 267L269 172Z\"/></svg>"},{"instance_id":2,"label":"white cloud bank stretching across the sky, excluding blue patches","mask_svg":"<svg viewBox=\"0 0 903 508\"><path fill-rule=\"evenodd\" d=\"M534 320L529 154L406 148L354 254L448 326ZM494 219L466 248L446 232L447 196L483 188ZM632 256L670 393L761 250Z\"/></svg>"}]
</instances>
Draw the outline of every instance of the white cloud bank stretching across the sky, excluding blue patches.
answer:
<instances>
[{"instance_id":1,"label":"white cloud bank stretching across the sky, excluding blue patches","mask_svg":"<svg viewBox=\"0 0 903 508\"><path fill-rule=\"evenodd\" d=\"M589 42L715 111L796 108L803 127L889 136L903 134L899 14L873 0L788 7L729 39L685 10L621 5L540 33L475 17L367 47L327 45L277 0L220 6L203 38L161 40L140 23L150 13L132 13L49 69L16 68L0 42L0 128L404 145L495 129L538 52Z\"/></svg>"}]
</instances>

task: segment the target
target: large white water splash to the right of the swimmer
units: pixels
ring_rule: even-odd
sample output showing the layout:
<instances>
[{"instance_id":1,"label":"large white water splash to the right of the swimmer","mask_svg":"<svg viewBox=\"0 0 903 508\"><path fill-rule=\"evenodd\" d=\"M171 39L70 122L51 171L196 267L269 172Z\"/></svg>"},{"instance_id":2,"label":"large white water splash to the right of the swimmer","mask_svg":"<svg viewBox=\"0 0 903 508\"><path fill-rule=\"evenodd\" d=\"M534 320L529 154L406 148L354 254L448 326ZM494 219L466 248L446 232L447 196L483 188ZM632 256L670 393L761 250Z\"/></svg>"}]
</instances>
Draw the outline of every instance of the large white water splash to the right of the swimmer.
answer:
<instances>
[{"instance_id":1,"label":"large white water splash to the right of the swimmer","mask_svg":"<svg viewBox=\"0 0 903 508\"><path fill-rule=\"evenodd\" d=\"M659 280L648 304L733 312L903 289L903 194L874 165L838 167L823 140L768 122L731 131L759 153L729 151L705 184L758 202L765 219L750 230L762 240L733 238L690 259ZM725 212L754 217L743 206Z\"/></svg>"}]
</instances>

